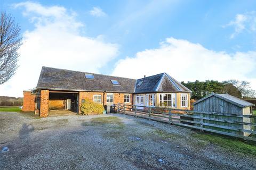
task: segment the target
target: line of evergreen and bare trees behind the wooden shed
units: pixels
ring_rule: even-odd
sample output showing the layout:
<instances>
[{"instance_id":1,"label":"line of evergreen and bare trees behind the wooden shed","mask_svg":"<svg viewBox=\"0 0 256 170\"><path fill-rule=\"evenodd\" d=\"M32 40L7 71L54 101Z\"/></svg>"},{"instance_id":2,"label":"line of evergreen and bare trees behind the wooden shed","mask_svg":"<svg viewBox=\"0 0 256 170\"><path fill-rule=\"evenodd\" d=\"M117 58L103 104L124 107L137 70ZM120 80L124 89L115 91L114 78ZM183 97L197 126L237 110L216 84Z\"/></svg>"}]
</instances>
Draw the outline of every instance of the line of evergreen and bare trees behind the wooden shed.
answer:
<instances>
[{"instance_id":1,"label":"line of evergreen and bare trees behind the wooden shed","mask_svg":"<svg viewBox=\"0 0 256 170\"><path fill-rule=\"evenodd\" d=\"M255 90L250 86L250 82L238 81L238 80L227 80L227 81L188 81L185 83L181 82L184 86L192 91L191 99L201 99L212 92L216 94L229 94L238 98L253 98L256 96Z\"/></svg>"}]
</instances>

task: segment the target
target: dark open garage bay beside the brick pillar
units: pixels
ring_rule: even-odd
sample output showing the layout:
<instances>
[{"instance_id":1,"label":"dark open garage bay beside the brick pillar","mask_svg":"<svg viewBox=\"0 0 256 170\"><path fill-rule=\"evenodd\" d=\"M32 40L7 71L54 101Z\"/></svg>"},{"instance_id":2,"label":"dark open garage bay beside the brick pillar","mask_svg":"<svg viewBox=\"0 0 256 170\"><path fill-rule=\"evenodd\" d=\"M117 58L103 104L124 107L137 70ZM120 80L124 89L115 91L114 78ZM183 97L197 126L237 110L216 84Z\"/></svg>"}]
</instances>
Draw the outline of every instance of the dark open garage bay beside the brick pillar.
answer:
<instances>
[{"instance_id":1,"label":"dark open garage bay beside the brick pillar","mask_svg":"<svg viewBox=\"0 0 256 170\"><path fill-rule=\"evenodd\" d=\"M50 91L49 93L50 114L57 113L77 113L78 112L78 92ZM55 112L54 112L55 111ZM68 112L69 111L69 112Z\"/></svg>"}]
</instances>

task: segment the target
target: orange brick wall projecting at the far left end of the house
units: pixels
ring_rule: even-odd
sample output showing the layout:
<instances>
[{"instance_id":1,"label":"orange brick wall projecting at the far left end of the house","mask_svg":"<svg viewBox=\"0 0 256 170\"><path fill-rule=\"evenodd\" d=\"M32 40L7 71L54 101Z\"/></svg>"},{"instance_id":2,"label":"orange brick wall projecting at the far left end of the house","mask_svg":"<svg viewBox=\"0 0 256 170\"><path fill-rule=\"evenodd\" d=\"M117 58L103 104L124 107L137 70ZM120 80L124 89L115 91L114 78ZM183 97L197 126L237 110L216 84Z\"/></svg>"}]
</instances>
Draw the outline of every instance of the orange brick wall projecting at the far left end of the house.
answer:
<instances>
[{"instance_id":1,"label":"orange brick wall projecting at the far left end of the house","mask_svg":"<svg viewBox=\"0 0 256 170\"><path fill-rule=\"evenodd\" d=\"M31 91L23 91L23 107L24 112L35 111L35 94L31 94Z\"/></svg>"}]
</instances>

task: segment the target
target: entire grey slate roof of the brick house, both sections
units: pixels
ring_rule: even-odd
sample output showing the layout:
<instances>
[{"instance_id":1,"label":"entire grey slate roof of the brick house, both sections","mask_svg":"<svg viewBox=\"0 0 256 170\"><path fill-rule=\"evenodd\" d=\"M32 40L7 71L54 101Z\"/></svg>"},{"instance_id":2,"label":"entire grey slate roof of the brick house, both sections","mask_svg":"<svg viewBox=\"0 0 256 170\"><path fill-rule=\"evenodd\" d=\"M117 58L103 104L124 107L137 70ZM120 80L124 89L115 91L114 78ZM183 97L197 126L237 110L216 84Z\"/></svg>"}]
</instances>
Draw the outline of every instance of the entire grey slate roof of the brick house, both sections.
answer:
<instances>
[{"instance_id":1,"label":"entire grey slate roof of the brick house, both sections","mask_svg":"<svg viewBox=\"0 0 256 170\"><path fill-rule=\"evenodd\" d=\"M167 73L156 74L138 80L94 73L88 73L93 74L94 79L86 79L85 73L87 72L43 66L37 88L73 91L135 92L137 94L146 92L191 92ZM120 86L113 85L111 80L117 80ZM137 86L140 81L143 81L143 83L141 86Z\"/></svg>"}]
</instances>

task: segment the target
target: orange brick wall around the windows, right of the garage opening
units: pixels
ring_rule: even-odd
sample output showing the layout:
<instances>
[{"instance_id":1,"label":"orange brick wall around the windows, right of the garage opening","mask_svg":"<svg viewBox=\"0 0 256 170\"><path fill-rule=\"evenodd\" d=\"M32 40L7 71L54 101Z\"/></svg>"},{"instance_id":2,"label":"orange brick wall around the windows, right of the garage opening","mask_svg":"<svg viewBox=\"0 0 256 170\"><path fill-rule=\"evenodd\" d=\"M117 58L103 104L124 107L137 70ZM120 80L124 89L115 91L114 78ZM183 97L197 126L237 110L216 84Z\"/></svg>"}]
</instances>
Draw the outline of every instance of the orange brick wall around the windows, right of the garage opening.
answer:
<instances>
[{"instance_id":1,"label":"orange brick wall around the windows, right of the garage opening","mask_svg":"<svg viewBox=\"0 0 256 170\"><path fill-rule=\"evenodd\" d=\"M124 94L121 93L113 93L114 94L114 103L124 103ZM79 91L79 105L82 103L82 99L89 98L93 101L93 95L101 95L101 103L103 105L111 105L111 103L107 103L107 92L86 92L86 91ZM130 94L130 103L132 104L132 94ZM81 113L79 111L79 113Z\"/></svg>"}]
</instances>

